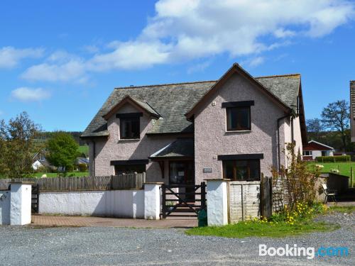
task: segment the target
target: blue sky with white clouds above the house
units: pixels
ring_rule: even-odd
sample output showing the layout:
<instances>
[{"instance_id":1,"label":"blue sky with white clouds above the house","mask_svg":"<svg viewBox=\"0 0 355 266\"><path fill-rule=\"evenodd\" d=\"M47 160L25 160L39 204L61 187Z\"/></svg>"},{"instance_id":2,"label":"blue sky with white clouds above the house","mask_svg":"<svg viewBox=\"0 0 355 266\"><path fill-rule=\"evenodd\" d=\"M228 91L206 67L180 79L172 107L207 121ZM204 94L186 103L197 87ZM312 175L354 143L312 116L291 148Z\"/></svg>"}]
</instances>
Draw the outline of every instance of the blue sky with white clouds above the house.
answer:
<instances>
[{"instance_id":1,"label":"blue sky with white clouds above the house","mask_svg":"<svg viewBox=\"0 0 355 266\"><path fill-rule=\"evenodd\" d=\"M114 87L300 73L306 118L349 101L355 1L0 2L0 120L84 131Z\"/></svg>"}]
</instances>

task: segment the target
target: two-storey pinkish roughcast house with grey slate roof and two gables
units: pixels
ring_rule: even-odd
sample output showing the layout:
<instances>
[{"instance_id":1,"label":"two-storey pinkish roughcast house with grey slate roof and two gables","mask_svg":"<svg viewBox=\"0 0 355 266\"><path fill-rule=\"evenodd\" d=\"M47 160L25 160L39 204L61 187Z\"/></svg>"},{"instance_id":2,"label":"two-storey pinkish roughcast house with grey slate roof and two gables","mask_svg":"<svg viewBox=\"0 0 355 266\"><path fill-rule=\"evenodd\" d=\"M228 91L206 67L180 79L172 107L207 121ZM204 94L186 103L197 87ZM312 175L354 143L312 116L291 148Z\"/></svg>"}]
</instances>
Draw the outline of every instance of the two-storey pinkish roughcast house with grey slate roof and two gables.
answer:
<instances>
[{"instance_id":1,"label":"two-storey pinkish roughcast house with grey slate roof and two gables","mask_svg":"<svg viewBox=\"0 0 355 266\"><path fill-rule=\"evenodd\" d=\"M90 175L146 172L147 182L258 180L307 140L300 74L114 89L81 136Z\"/></svg>"}]
</instances>

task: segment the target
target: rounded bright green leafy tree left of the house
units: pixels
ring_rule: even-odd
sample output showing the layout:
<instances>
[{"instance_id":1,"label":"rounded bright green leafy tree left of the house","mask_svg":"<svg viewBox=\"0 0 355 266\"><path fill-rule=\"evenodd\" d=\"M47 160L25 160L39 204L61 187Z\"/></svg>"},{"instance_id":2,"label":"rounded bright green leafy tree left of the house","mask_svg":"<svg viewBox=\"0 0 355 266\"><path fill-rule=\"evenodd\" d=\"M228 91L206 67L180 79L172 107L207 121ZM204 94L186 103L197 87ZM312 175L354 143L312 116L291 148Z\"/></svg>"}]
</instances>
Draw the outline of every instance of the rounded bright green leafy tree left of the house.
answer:
<instances>
[{"instance_id":1,"label":"rounded bright green leafy tree left of the house","mask_svg":"<svg viewBox=\"0 0 355 266\"><path fill-rule=\"evenodd\" d=\"M62 131L55 132L46 147L49 153L47 158L52 165L62 167L63 172L74 165L79 145L72 135Z\"/></svg>"}]
</instances>

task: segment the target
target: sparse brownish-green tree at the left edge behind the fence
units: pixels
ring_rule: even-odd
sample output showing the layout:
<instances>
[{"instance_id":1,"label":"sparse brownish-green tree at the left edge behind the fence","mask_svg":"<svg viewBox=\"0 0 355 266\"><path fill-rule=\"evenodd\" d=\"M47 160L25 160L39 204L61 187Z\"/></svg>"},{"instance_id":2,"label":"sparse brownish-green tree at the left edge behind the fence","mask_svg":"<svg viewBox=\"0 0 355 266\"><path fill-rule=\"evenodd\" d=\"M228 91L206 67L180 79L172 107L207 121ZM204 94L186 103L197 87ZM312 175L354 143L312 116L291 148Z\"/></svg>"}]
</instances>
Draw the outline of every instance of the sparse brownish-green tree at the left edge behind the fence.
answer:
<instances>
[{"instance_id":1,"label":"sparse brownish-green tree at the left edge behind the fence","mask_svg":"<svg viewBox=\"0 0 355 266\"><path fill-rule=\"evenodd\" d=\"M0 121L0 175L10 178L32 174L33 143L40 127L26 112L11 118L9 124Z\"/></svg>"}]
</instances>

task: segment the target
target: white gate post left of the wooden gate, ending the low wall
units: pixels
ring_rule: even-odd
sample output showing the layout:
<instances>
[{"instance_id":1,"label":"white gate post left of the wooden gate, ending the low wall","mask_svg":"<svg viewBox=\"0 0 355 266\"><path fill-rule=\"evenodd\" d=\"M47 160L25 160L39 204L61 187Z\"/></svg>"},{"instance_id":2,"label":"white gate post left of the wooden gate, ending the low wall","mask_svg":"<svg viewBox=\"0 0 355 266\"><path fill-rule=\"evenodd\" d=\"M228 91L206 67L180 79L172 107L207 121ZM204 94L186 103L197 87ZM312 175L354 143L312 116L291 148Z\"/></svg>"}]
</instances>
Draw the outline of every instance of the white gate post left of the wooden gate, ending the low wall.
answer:
<instances>
[{"instance_id":1,"label":"white gate post left of the wooden gate, ending the low wall","mask_svg":"<svg viewBox=\"0 0 355 266\"><path fill-rule=\"evenodd\" d=\"M163 182L144 183L144 218L159 220L160 187Z\"/></svg>"}]
</instances>

